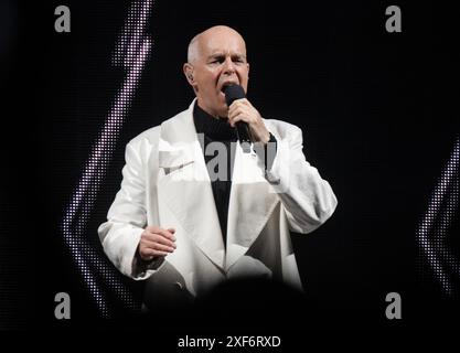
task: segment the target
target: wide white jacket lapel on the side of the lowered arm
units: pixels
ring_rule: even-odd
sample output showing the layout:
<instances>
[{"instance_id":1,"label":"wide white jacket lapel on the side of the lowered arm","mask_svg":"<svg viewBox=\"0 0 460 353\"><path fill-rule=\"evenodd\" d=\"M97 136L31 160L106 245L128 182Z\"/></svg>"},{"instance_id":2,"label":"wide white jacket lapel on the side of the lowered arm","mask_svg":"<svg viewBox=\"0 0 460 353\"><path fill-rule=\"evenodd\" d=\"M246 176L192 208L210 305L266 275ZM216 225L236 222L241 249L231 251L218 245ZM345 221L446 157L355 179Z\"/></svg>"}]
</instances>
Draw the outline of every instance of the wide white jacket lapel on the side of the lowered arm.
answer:
<instances>
[{"instance_id":1,"label":"wide white jacket lapel on the side of the lowered arm","mask_svg":"<svg viewBox=\"0 0 460 353\"><path fill-rule=\"evenodd\" d=\"M221 269L224 243L203 152L193 124L193 105L161 126L158 193L186 235ZM163 173L161 172L163 171ZM173 254L172 254L173 255Z\"/></svg>"}]
</instances>

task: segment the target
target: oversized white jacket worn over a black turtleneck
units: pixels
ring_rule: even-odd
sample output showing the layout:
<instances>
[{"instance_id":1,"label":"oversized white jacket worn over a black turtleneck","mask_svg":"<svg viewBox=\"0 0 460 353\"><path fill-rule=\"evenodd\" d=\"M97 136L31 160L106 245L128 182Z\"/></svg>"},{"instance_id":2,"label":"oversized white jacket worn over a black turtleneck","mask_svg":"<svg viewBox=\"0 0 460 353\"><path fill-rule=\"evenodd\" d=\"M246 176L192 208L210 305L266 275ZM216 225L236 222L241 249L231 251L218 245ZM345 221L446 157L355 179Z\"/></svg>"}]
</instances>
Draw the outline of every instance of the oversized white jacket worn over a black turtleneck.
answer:
<instances>
[{"instance_id":1,"label":"oversized white jacket worn over a black turtleneck","mask_svg":"<svg viewBox=\"0 0 460 353\"><path fill-rule=\"evenodd\" d=\"M105 253L126 276L175 285L192 296L238 276L301 289L289 229L310 233L336 206L329 183L306 161L301 130L264 120L278 142L266 174L259 158L237 145L225 250L193 105L127 145L121 189L98 229ZM145 268L135 254L148 225L175 228L176 249Z\"/></svg>"}]
</instances>

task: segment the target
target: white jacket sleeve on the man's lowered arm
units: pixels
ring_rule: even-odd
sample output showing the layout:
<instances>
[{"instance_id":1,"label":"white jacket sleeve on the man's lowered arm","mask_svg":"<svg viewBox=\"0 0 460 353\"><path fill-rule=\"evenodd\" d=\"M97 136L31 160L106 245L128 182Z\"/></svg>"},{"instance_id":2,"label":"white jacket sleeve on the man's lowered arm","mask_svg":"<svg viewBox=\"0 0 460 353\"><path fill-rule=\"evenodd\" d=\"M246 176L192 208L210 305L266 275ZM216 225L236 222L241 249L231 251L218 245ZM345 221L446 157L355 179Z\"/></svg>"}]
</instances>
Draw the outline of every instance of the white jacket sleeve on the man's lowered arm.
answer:
<instances>
[{"instance_id":1,"label":"white jacket sleeve on the man's lowered arm","mask_svg":"<svg viewBox=\"0 0 460 353\"><path fill-rule=\"evenodd\" d=\"M133 279L149 277L163 261L145 263L138 256L140 236L147 225L146 175L139 145L131 141L126 147L121 188L108 211L107 222L98 228L110 261Z\"/></svg>"}]
</instances>

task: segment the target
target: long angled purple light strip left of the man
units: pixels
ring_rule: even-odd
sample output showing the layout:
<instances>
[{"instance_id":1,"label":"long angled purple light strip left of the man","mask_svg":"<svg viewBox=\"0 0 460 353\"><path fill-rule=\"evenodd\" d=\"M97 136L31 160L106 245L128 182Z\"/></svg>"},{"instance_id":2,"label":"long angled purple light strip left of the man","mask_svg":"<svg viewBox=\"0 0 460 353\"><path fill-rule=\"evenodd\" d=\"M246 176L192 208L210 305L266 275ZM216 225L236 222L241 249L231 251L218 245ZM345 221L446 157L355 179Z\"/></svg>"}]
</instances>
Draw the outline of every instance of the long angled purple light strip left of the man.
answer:
<instances>
[{"instance_id":1,"label":"long angled purple light strip left of the man","mask_svg":"<svg viewBox=\"0 0 460 353\"><path fill-rule=\"evenodd\" d=\"M89 244L84 232L90 217L97 193L110 162L118 135L139 84L142 69L149 58L151 38L146 33L152 0L133 1L124 30L116 44L113 63L126 69L122 86L115 97L110 111L89 154L81 180L65 212L62 232L65 244L73 256L77 269L103 317L109 317L109 310L98 285L97 275L115 291L124 303L135 309L135 300L128 288L120 281L96 249Z\"/></svg>"}]
</instances>

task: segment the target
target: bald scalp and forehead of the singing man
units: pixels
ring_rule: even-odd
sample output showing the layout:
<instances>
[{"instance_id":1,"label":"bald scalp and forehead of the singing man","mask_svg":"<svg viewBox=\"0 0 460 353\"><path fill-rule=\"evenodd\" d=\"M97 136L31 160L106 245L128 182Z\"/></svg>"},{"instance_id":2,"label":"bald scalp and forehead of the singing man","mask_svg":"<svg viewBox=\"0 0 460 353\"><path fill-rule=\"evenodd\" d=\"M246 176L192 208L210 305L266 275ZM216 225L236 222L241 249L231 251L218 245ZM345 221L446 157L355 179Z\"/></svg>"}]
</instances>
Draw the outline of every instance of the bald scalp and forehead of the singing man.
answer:
<instances>
[{"instance_id":1,"label":"bald scalp and forehead of the singing man","mask_svg":"<svg viewBox=\"0 0 460 353\"><path fill-rule=\"evenodd\" d=\"M196 34L189 43L186 60L190 64L195 64L203 52L204 43L212 41L214 38L234 38L243 42L246 50L246 43L243 36L234 29L227 25L214 25Z\"/></svg>"}]
</instances>

